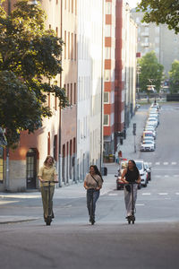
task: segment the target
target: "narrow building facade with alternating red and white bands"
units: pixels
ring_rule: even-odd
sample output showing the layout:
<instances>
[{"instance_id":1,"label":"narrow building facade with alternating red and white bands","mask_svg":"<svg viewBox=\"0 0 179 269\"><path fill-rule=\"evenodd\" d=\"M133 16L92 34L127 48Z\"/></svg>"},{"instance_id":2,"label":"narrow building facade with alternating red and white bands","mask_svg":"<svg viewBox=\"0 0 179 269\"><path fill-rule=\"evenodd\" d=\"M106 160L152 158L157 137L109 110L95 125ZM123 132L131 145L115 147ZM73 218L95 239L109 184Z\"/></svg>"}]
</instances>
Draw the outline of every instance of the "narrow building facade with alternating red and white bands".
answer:
<instances>
[{"instance_id":1,"label":"narrow building facade with alternating red and white bands","mask_svg":"<svg viewBox=\"0 0 179 269\"><path fill-rule=\"evenodd\" d=\"M106 0L104 72L104 154L115 152L115 4Z\"/></svg>"}]
</instances>

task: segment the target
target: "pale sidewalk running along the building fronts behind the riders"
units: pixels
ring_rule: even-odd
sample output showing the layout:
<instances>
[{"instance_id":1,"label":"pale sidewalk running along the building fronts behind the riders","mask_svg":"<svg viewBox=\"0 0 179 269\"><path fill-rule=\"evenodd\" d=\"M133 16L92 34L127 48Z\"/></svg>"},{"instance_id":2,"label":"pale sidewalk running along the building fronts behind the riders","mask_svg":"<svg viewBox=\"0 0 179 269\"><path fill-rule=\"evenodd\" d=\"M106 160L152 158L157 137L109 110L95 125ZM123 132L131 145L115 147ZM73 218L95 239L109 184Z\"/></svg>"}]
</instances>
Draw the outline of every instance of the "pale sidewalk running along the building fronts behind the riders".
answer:
<instances>
[{"instance_id":1,"label":"pale sidewalk running along the building fronts behind the riders","mask_svg":"<svg viewBox=\"0 0 179 269\"><path fill-rule=\"evenodd\" d=\"M147 118L148 109L139 109L132 121L129 128L126 131L126 139L124 140L123 145L119 145L118 151L123 152L123 158L126 159L138 159L139 158L139 146L141 143L141 134L143 131L143 126ZM136 123L136 148L137 152L134 152L134 137L132 134L133 123ZM106 195L115 188L115 174L117 173L118 164L117 163L104 163L104 166L107 167L107 176L104 177L104 186L101 189L101 195ZM86 196L86 192L83 187L83 182L78 184L72 184L68 187L55 188L55 199L65 199L65 198L82 198ZM41 201L40 192L30 192L30 193L0 193L0 206L4 204L11 203L7 199L39 199ZM1 215L0 224L7 223L17 223L24 221L35 221L38 220L36 217L30 217L26 215L19 216L10 216L10 215Z\"/></svg>"}]
</instances>

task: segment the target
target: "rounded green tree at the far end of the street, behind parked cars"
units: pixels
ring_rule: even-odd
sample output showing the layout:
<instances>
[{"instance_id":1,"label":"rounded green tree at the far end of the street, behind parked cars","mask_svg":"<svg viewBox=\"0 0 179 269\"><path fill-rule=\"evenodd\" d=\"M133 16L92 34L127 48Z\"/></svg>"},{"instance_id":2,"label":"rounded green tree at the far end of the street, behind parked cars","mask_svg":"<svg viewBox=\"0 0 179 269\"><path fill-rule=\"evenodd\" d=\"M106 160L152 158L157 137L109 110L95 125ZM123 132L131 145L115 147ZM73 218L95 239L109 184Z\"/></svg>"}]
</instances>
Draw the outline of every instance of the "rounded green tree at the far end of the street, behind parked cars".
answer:
<instances>
[{"instance_id":1,"label":"rounded green tree at the far end of the street, behind parked cars","mask_svg":"<svg viewBox=\"0 0 179 269\"><path fill-rule=\"evenodd\" d=\"M141 66L140 89L147 91L147 85L154 84L157 91L160 90L164 66L158 63L158 58L154 51L147 53L139 60Z\"/></svg>"}]
</instances>

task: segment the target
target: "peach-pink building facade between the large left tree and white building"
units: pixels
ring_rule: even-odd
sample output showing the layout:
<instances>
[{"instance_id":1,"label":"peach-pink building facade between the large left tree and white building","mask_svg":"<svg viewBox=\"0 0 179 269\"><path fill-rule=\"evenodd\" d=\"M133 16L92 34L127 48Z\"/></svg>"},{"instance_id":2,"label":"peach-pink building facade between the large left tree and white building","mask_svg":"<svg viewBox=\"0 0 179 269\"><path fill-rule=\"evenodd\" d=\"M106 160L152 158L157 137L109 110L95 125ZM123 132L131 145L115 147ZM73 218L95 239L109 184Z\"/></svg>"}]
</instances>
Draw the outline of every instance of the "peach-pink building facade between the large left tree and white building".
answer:
<instances>
[{"instance_id":1,"label":"peach-pink building facade between the large left tree and white building","mask_svg":"<svg viewBox=\"0 0 179 269\"><path fill-rule=\"evenodd\" d=\"M70 106L60 109L59 181L68 185L76 178L77 134L77 0L61 3L61 37L64 40L61 85L66 89ZM50 11L48 12L50 13Z\"/></svg>"}]
</instances>

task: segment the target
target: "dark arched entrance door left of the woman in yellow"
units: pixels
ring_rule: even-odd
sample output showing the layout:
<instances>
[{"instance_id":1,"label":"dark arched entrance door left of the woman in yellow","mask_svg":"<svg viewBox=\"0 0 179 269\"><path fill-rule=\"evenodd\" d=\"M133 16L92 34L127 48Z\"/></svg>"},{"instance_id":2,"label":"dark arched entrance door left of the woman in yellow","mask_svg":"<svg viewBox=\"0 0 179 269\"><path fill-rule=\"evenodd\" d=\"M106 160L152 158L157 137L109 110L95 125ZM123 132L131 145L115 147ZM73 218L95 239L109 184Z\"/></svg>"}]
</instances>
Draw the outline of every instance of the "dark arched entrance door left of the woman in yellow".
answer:
<instances>
[{"instance_id":1,"label":"dark arched entrance door left of the woman in yellow","mask_svg":"<svg viewBox=\"0 0 179 269\"><path fill-rule=\"evenodd\" d=\"M30 149L27 153L26 158L26 180L27 188L36 188L36 178L37 178L37 152L33 149Z\"/></svg>"}]
</instances>

